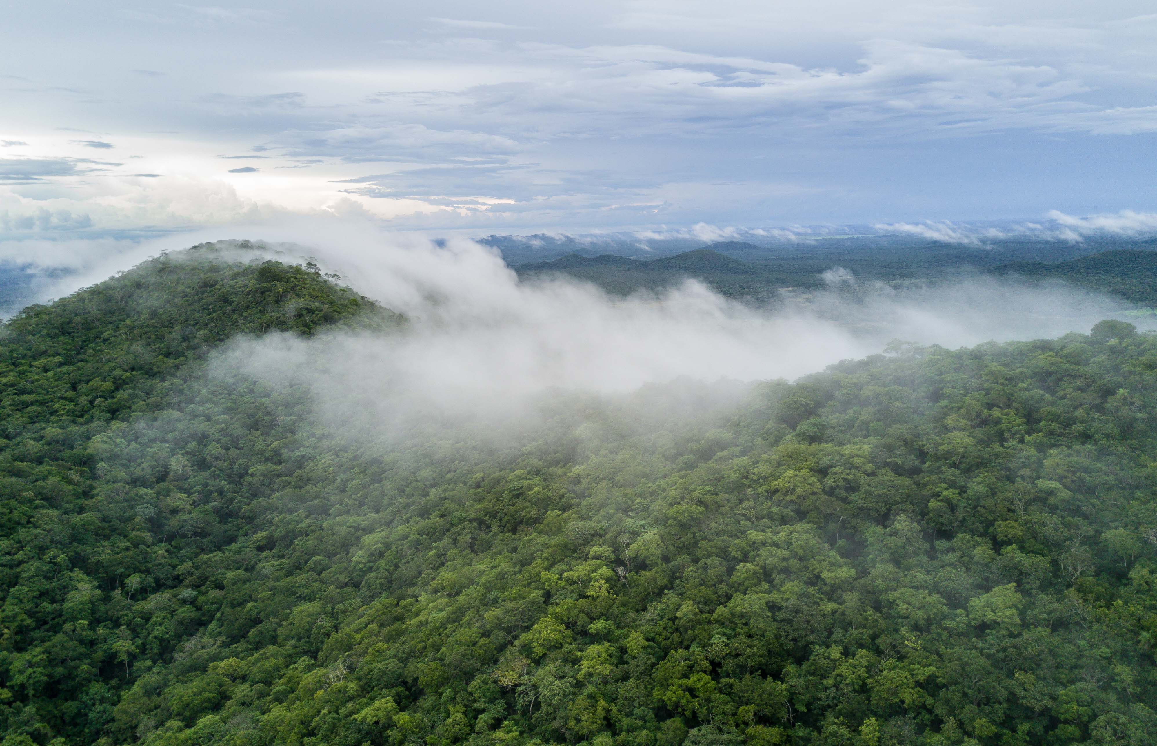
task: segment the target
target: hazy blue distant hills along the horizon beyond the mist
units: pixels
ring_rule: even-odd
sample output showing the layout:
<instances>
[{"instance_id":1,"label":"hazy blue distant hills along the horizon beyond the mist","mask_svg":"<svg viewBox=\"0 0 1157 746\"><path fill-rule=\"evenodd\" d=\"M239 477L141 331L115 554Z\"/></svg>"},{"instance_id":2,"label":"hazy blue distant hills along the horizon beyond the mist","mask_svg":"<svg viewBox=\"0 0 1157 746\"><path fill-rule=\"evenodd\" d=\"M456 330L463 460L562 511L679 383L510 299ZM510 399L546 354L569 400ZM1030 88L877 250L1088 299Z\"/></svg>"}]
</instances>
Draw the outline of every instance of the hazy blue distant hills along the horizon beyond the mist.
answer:
<instances>
[{"instance_id":1,"label":"hazy blue distant hills along the horizon beyond the mist","mask_svg":"<svg viewBox=\"0 0 1157 746\"><path fill-rule=\"evenodd\" d=\"M731 297L768 298L782 288L816 288L820 275L843 267L862 280L936 280L972 269L1060 279L1157 306L1157 239L1090 238L1059 242L1009 238L973 248L928 239L840 235L806 241L757 237L703 244L687 237L641 241L635 234L487 236L478 239L502 253L523 278L566 274L609 293L659 289L697 278ZM53 276L62 271L52 273ZM30 266L0 263L0 316L36 300L49 275Z\"/></svg>"}]
</instances>

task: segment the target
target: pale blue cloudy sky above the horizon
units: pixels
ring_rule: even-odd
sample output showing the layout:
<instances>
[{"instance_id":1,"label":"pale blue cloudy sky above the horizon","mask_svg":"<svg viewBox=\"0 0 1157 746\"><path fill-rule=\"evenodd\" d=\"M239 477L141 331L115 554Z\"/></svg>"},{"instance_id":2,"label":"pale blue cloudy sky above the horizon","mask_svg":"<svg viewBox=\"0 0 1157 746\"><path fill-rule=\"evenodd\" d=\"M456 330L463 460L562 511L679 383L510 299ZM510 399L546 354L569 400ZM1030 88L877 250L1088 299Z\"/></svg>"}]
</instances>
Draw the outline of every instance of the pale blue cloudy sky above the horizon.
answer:
<instances>
[{"instance_id":1,"label":"pale blue cloudy sky above the horizon","mask_svg":"<svg viewBox=\"0 0 1157 746\"><path fill-rule=\"evenodd\" d=\"M5 10L0 102L8 242L951 232L1157 202L1141 1L40 0Z\"/></svg>"}]
</instances>

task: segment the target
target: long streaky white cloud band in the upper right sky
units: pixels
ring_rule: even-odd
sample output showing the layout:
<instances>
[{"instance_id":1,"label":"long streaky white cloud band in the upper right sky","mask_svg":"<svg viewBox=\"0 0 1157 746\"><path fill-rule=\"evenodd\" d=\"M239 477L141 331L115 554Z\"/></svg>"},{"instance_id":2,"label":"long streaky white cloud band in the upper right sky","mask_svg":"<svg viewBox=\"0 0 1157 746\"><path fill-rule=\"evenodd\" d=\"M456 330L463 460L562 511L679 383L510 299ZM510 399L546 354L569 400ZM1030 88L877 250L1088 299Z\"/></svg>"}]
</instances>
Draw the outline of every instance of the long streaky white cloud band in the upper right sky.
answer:
<instances>
[{"instance_id":1,"label":"long streaky white cloud band in the upper right sky","mask_svg":"<svg viewBox=\"0 0 1157 746\"><path fill-rule=\"evenodd\" d=\"M1066 103L1089 87L1054 67L891 39L863 42L855 62L840 68L658 45L518 46L551 74L480 86L470 91L469 108L484 116L530 111L532 126L570 133L723 133L758 125L788 139L815 127L928 138L941 135L935 124L945 118L955 132L1081 130L1093 111Z\"/></svg>"}]
</instances>

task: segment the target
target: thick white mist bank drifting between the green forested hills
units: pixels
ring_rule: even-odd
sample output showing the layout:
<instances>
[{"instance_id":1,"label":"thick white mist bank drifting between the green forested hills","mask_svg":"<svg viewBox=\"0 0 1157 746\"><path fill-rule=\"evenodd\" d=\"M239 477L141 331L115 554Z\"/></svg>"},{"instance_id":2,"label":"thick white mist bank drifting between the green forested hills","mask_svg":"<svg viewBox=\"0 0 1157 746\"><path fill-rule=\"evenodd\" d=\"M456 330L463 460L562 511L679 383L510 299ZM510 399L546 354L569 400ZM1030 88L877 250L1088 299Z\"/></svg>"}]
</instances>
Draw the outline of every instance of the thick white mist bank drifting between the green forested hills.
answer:
<instances>
[{"instance_id":1,"label":"thick white mist bank drifting between the green forested hills","mask_svg":"<svg viewBox=\"0 0 1157 746\"><path fill-rule=\"evenodd\" d=\"M359 293L404 312L407 327L241 341L218 371L304 386L332 423L393 433L432 416L517 419L539 398L566 392L613 396L684 377L795 378L879 353L893 339L958 347L1055 337L1088 331L1119 308L1063 286L967 276L849 293L838 269L841 288L778 310L728 301L695 282L612 301L572 281L519 282L495 253L462 239L436 246L339 231L274 248L316 257ZM351 391L361 394L355 402Z\"/></svg>"}]
</instances>

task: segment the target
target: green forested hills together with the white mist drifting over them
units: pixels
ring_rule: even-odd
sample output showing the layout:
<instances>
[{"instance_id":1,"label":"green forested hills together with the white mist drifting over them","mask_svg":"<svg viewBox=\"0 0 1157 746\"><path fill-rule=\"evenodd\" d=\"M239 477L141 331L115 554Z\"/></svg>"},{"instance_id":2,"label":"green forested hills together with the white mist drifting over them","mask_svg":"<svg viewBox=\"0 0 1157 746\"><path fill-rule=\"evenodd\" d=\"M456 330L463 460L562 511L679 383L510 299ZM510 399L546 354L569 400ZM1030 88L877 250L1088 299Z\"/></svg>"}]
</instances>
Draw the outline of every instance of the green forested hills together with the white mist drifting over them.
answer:
<instances>
[{"instance_id":1,"label":"green forested hills together with the white mist drifting over them","mask_svg":"<svg viewBox=\"0 0 1157 746\"><path fill-rule=\"evenodd\" d=\"M1151 743L1132 288L702 251L223 241L16 312L6 744Z\"/></svg>"}]
</instances>

